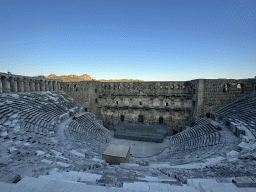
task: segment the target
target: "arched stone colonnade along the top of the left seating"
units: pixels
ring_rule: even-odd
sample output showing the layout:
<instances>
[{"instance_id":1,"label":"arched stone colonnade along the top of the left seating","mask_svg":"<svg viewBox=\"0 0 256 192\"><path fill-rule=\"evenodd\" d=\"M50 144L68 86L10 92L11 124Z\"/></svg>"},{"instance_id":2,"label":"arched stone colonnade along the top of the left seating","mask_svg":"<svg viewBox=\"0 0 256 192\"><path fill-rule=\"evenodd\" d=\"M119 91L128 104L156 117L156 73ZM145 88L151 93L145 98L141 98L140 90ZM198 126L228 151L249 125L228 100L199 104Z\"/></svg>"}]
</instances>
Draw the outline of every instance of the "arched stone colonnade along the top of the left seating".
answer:
<instances>
[{"instance_id":1,"label":"arched stone colonnade along the top of the left seating","mask_svg":"<svg viewBox=\"0 0 256 192\"><path fill-rule=\"evenodd\" d=\"M0 73L0 93L58 91L61 80Z\"/></svg>"}]
</instances>

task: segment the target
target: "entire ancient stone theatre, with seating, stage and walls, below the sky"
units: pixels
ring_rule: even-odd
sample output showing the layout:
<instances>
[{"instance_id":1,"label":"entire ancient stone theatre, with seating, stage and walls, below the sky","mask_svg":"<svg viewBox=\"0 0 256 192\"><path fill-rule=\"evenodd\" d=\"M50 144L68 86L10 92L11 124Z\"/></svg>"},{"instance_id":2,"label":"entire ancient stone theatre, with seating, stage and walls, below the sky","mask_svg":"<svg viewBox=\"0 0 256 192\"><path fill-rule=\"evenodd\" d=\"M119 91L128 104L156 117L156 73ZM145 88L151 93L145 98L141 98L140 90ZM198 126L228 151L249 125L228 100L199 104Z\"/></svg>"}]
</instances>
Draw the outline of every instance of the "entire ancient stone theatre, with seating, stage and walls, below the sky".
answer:
<instances>
[{"instance_id":1,"label":"entire ancient stone theatre, with seating, stage and walls, below the sky","mask_svg":"<svg viewBox=\"0 0 256 192\"><path fill-rule=\"evenodd\" d=\"M256 77L0 73L0 191L255 191Z\"/></svg>"}]
</instances>

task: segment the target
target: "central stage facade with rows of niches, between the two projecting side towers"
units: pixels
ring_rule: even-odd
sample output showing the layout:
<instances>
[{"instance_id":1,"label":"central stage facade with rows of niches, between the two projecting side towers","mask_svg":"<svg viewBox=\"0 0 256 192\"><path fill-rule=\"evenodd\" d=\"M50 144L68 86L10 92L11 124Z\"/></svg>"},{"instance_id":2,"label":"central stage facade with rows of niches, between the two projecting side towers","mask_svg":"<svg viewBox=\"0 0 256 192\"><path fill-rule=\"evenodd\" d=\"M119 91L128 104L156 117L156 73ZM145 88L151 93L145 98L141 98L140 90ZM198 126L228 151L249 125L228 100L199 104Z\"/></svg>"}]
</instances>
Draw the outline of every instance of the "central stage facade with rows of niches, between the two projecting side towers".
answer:
<instances>
[{"instance_id":1,"label":"central stage facade with rows of niches, between the two projecting side towers","mask_svg":"<svg viewBox=\"0 0 256 192\"><path fill-rule=\"evenodd\" d=\"M189 82L119 82L101 83L99 96L104 124L159 124L163 118L168 130L181 129L191 123L192 96Z\"/></svg>"}]
</instances>

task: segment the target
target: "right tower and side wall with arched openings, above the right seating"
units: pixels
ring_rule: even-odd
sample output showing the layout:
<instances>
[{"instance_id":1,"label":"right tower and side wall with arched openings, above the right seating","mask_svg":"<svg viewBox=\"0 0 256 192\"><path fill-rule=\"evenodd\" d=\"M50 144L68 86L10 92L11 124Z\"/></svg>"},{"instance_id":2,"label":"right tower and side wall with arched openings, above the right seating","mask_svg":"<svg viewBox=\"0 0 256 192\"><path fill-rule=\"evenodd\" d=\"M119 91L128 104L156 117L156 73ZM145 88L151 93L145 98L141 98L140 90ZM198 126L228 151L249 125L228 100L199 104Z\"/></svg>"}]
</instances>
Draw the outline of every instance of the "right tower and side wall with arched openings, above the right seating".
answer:
<instances>
[{"instance_id":1,"label":"right tower and side wall with arched openings, above the right seating","mask_svg":"<svg viewBox=\"0 0 256 192\"><path fill-rule=\"evenodd\" d=\"M256 78L196 79L191 81L193 121L256 91Z\"/></svg>"}]
</instances>

